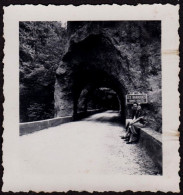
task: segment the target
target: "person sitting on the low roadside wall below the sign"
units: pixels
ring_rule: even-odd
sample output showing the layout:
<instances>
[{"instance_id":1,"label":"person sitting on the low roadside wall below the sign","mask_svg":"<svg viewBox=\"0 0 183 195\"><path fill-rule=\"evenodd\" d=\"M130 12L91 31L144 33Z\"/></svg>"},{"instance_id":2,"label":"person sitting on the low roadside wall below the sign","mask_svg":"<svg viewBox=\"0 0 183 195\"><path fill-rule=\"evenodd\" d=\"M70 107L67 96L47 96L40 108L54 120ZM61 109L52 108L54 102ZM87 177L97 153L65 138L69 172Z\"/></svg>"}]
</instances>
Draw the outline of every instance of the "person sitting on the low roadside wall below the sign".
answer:
<instances>
[{"instance_id":1,"label":"person sitting on the low roadside wall below the sign","mask_svg":"<svg viewBox=\"0 0 183 195\"><path fill-rule=\"evenodd\" d=\"M137 143L140 138L140 132L134 124L143 121L142 107L137 103L132 106L132 119L129 119L126 125L126 135L122 137L127 144Z\"/></svg>"}]
</instances>

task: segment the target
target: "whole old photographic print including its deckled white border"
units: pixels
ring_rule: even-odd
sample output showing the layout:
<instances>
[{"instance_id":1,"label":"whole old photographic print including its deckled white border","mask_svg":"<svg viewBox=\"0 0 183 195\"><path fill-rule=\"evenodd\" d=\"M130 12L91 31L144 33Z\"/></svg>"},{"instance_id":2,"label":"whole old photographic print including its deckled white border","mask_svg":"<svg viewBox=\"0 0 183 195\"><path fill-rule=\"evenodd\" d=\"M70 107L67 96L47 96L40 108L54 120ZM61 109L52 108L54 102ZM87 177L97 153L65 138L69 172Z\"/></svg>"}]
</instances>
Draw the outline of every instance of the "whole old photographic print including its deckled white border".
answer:
<instances>
[{"instance_id":1,"label":"whole old photographic print including its deckled white border","mask_svg":"<svg viewBox=\"0 0 183 195\"><path fill-rule=\"evenodd\" d=\"M103 6L119 16L110 19L103 12L106 18L97 18L96 12L85 18L84 7L25 6L21 19L23 8L9 9L19 15L13 25L5 25L6 45L13 45L8 29L15 29L17 37L16 47L5 47L5 53L10 51L7 70L14 55L17 66L5 69L5 80L16 78L5 83L5 94L16 93L5 101L10 131L4 134L4 148L14 160L5 153L4 189L177 191L176 14L171 30L166 29L169 10L178 9L127 8L141 14L126 12L125 18L126 7ZM151 17L140 17L146 8ZM58 16L39 19L31 9ZM95 9L91 6L90 13ZM8 14L6 20L11 21ZM13 98L14 105L8 104ZM6 141L13 128L17 137Z\"/></svg>"}]
</instances>

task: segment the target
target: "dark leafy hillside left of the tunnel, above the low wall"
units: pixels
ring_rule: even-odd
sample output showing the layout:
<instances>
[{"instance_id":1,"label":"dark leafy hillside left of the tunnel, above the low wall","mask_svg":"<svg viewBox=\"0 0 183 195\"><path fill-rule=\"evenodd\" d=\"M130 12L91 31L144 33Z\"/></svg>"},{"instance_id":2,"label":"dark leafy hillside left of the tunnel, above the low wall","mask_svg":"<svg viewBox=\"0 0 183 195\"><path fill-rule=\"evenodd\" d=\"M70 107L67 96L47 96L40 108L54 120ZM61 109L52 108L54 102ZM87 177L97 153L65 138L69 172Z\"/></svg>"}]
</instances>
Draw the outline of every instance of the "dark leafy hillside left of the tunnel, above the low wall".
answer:
<instances>
[{"instance_id":1,"label":"dark leafy hillside left of the tunnel, above the low wall","mask_svg":"<svg viewBox=\"0 0 183 195\"><path fill-rule=\"evenodd\" d=\"M20 22L20 121L54 117L55 71L65 52L60 22Z\"/></svg>"}]
</instances>

